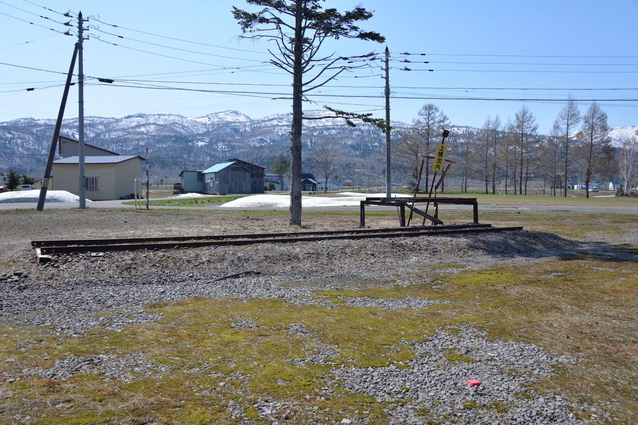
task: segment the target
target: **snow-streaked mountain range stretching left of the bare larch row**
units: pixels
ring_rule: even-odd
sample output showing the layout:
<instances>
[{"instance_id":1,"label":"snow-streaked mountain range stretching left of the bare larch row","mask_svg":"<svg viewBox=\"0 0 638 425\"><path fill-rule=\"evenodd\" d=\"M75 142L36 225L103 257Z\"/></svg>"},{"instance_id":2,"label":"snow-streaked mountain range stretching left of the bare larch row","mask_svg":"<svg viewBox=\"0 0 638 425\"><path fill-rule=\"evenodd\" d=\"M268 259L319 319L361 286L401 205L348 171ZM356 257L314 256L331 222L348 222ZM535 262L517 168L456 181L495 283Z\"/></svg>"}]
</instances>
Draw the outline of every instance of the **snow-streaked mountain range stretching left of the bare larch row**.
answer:
<instances>
[{"instance_id":1,"label":"snow-streaked mountain range stretching left of the bare larch row","mask_svg":"<svg viewBox=\"0 0 638 425\"><path fill-rule=\"evenodd\" d=\"M304 114L325 117L332 113L308 110ZM40 169L55 124L53 119L33 118L0 122L0 168ZM85 117L84 124L85 141L91 145L137 154L139 141L139 152L148 147L156 168L187 169L234 156L267 165L290 145L292 114L253 119L236 110L200 117L139 113L119 119ZM304 144L312 148L316 140L330 136L347 147L347 155L369 157L385 138L379 129L358 124L352 128L344 119L304 120ZM392 125L406 127L401 122ZM61 134L77 139L77 118L64 120Z\"/></svg>"}]
</instances>

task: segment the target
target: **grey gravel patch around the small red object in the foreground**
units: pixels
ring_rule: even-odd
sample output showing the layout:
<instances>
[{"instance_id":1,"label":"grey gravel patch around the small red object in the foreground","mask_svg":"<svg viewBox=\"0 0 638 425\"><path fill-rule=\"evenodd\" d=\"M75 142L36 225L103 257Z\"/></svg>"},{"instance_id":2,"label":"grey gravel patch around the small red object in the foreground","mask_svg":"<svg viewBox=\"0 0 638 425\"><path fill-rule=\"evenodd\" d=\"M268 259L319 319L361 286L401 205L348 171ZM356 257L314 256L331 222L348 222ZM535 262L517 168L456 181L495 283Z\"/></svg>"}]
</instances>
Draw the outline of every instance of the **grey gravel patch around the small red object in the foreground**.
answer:
<instances>
[{"instance_id":1,"label":"grey gravel patch around the small red object in the foreground","mask_svg":"<svg viewBox=\"0 0 638 425\"><path fill-rule=\"evenodd\" d=\"M458 335L439 329L426 342L411 345L413 361L382 368L341 366L332 370L332 384L391 402L390 423L423 424L451 417L465 424L582 423L563 397L540 396L527 387L540 377L551 377L553 364L574 363L572 357L552 356L533 344L487 340L470 327ZM470 387L467 380L481 385Z\"/></svg>"}]
</instances>

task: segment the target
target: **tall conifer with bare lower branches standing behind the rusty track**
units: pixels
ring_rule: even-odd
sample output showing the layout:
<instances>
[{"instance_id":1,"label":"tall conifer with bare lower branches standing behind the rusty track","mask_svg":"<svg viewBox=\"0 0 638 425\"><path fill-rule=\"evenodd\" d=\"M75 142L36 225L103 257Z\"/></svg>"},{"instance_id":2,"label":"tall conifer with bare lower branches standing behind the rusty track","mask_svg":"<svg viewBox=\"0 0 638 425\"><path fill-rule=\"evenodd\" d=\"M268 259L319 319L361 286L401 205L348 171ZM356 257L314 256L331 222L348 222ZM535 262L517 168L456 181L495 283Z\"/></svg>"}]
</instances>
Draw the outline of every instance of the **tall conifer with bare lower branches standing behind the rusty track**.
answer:
<instances>
[{"instance_id":1,"label":"tall conifer with bare lower branches standing behind the rusty track","mask_svg":"<svg viewBox=\"0 0 638 425\"><path fill-rule=\"evenodd\" d=\"M323 8L321 0L246 0L262 9L249 12L233 7L233 16L243 31L240 38L273 41L276 49L269 50L272 65L292 76L292 128L290 137L290 225L301 226L301 134L302 120L343 118L349 126L353 119L360 119L380 127L384 132L390 123L373 119L371 113L357 114L334 110L330 116L304 117L302 102L309 101L307 95L334 80L344 71L366 66L355 61L373 59L374 54L359 57L341 57L336 54L320 55L323 43L329 39L356 38L382 43L385 38L378 32L363 31L357 26L360 21L372 17L372 13L361 6L340 13L335 8ZM364 62L365 63L365 62ZM304 76L309 75L306 81Z\"/></svg>"}]
</instances>

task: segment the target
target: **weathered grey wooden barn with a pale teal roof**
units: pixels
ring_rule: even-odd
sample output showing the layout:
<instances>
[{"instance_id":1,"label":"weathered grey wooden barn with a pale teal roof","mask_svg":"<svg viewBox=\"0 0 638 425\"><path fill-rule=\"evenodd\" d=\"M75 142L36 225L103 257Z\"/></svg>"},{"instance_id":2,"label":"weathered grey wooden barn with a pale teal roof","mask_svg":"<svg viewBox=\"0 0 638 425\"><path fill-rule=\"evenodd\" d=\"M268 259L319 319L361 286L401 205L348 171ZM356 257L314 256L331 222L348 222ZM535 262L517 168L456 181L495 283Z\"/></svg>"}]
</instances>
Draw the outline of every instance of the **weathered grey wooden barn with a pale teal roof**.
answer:
<instances>
[{"instance_id":1,"label":"weathered grey wooden barn with a pale teal roof","mask_svg":"<svg viewBox=\"0 0 638 425\"><path fill-rule=\"evenodd\" d=\"M229 193L263 193L265 168L231 158L202 171L204 193L226 195Z\"/></svg>"}]
</instances>

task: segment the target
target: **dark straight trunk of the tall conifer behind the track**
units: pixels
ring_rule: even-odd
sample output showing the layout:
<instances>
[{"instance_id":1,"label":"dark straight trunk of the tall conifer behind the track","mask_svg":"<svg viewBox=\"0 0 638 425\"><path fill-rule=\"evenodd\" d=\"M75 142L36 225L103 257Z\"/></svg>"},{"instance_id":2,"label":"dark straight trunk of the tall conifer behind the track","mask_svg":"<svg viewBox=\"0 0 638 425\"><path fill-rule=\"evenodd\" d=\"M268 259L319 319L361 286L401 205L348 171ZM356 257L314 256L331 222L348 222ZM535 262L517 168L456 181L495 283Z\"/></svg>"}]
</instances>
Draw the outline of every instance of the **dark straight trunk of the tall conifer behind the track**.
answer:
<instances>
[{"instance_id":1,"label":"dark straight trunk of the tall conifer behind the track","mask_svg":"<svg viewBox=\"0 0 638 425\"><path fill-rule=\"evenodd\" d=\"M295 63L292 83L292 130L290 138L290 226L301 226L301 125L303 96L303 0L297 0L295 11Z\"/></svg>"}]
</instances>

